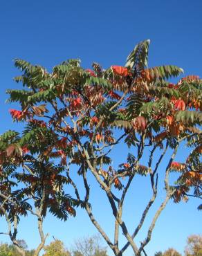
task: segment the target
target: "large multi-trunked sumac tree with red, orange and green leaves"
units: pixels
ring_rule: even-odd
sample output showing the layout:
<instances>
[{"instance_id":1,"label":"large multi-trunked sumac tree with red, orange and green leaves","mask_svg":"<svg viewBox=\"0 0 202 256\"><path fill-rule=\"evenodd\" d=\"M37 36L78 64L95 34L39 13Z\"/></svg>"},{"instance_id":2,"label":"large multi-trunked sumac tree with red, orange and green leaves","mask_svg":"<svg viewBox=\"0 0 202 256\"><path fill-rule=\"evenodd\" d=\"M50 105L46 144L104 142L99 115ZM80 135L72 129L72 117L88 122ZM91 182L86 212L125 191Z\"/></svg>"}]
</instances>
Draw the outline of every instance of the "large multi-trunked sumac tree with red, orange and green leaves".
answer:
<instances>
[{"instance_id":1,"label":"large multi-trunked sumac tree with red, orange and green leaves","mask_svg":"<svg viewBox=\"0 0 202 256\"><path fill-rule=\"evenodd\" d=\"M75 205L84 207L95 228L118 256L129 246L135 255L147 255L145 246L170 199L175 202L187 200L189 196L201 199L202 80L190 75L176 84L168 82L183 70L169 65L148 68L148 50L149 40L140 42L127 57L125 66L111 66L106 70L97 63L93 63L92 70L86 70L80 66L80 60L68 60L49 73L42 66L15 60L15 66L22 72L15 80L21 82L24 89L7 91L8 101L18 102L21 107L10 110L13 120L24 122L26 127L20 141L1 149L2 152L10 157L10 147L19 151L26 147L30 165L37 159L46 166L57 165L56 174L57 168L62 168L67 183L59 187L59 192L64 192L65 185L73 186ZM121 143L134 148L135 154L129 153L116 168L112 165L111 152ZM185 163L178 163L175 161L178 148L185 144L189 156ZM160 167L165 176L165 199L156 209L147 235L138 246L136 236L160 187L160 163L168 157L165 166ZM78 189L77 179L72 179L71 170L75 165L78 176L83 179L84 195ZM111 206L113 240L93 215L95 205L90 204L89 172ZM169 183L171 172L176 172L176 183ZM138 226L130 233L122 212L127 192L133 188L132 181L137 175L150 177L152 195ZM33 173L34 179L35 176L37 173ZM47 177L51 181L52 178ZM59 181L59 177L55 176L54 181ZM67 211L72 212L73 205L69 206ZM126 239L122 248L120 230Z\"/></svg>"}]
</instances>

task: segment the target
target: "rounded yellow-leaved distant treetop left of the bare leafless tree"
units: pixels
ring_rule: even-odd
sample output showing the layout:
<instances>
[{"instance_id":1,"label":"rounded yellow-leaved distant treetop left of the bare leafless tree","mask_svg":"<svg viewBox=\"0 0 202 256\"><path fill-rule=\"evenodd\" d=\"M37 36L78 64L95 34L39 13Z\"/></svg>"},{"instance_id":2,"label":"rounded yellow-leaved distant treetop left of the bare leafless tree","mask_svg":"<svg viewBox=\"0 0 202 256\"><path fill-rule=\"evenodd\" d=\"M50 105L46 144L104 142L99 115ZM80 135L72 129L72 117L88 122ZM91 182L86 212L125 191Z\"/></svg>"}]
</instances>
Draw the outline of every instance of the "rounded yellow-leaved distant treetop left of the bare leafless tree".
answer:
<instances>
[{"instance_id":1,"label":"rounded yellow-leaved distant treetop left of the bare leafless tree","mask_svg":"<svg viewBox=\"0 0 202 256\"><path fill-rule=\"evenodd\" d=\"M64 243L59 239L55 239L48 246L44 247L43 256L71 256L71 253L64 248Z\"/></svg>"}]
</instances>

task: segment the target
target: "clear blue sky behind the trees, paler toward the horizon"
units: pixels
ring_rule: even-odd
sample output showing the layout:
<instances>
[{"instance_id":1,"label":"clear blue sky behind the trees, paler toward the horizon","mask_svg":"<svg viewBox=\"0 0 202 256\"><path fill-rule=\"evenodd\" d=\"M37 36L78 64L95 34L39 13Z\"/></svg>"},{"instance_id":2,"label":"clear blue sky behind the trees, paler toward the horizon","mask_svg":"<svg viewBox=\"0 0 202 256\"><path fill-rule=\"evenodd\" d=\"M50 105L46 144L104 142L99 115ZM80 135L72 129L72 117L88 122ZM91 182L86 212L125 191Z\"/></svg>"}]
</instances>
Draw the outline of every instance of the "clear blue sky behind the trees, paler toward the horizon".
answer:
<instances>
[{"instance_id":1,"label":"clear blue sky behind the trees, paler toward the horizon","mask_svg":"<svg viewBox=\"0 0 202 256\"><path fill-rule=\"evenodd\" d=\"M80 57L85 67L93 61L104 68L111 64L125 64L134 45L151 39L149 66L175 64L185 70L185 75L202 77L202 1L201 0L125 0L125 1L68 1L68 0L7 0L0 3L0 132L17 128L5 104L7 88L16 88L12 77L17 74L12 60L15 57L42 64L50 69L68 58ZM121 152L118 157L121 157ZM183 152L178 158L184 158ZM116 161L116 160L115 160ZM132 226L140 217L148 196L147 183L141 183L127 200L125 219ZM94 188L94 187L93 187ZM104 196L98 195L94 212L111 235L111 211ZM137 191L137 194L135 194ZM132 201L131 201L132 199ZM132 202L132 203L131 203ZM149 256L156 250L172 246L183 253L188 235L201 232L201 212L196 210L199 201L169 203L162 214L152 242L147 246ZM153 212L154 213L154 212ZM3 221L0 221L3 227ZM21 223L19 237L26 239L30 248L35 247L38 236L33 232L33 219ZM96 231L84 212L78 211L76 219L61 222L48 216L45 229L62 239L69 246L73 239L91 235ZM3 230L0 230L3 231ZM140 236L142 238L144 236ZM6 241L0 237L0 241ZM126 255L131 255L128 251Z\"/></svg>"}]
</instances>

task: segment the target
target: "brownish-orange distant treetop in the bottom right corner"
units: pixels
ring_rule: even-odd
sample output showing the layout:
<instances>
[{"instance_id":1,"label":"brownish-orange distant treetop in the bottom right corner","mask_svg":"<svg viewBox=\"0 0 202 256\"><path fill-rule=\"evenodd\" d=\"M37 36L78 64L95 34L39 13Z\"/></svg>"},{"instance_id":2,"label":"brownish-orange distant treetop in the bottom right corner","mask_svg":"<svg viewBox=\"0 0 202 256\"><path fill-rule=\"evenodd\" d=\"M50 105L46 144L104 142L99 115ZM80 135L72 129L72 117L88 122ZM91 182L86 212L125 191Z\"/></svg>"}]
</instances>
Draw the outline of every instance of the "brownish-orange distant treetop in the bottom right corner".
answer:
<instances>
[{"instance_id":1,"label":"brownish-orange distant treetop in the bottom right corner","mask_svg":"<svg viewBox=\"0 0 202 256\"><path fill-rule=\"evenodd\" d=\"M201 256L202 255L202 235L190 235L187 238L187 246L185 247L185 256Z\"/></svg>"}]
</instances>

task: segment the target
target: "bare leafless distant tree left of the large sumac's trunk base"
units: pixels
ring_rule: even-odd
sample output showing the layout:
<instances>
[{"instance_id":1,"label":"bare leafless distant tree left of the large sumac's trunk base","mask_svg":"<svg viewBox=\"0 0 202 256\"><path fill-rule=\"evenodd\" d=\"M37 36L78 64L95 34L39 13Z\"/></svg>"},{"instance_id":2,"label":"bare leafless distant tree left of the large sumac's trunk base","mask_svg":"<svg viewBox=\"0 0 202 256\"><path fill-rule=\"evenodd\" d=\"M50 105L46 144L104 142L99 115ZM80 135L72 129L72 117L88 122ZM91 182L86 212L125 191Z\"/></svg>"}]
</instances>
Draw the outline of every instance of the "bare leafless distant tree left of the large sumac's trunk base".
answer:
<instances>
[{"instance_id":1,"label":"bare leafless distant tree left of the large sumac's trunk base","mask_svg":"<svg viewBox=\"0 0 202 256\"><path fill-rule=\"evenodd\" d=\"M107 256L99 235L77 239L73 247L73 256Z\"/></svg>"}]
</instances>

